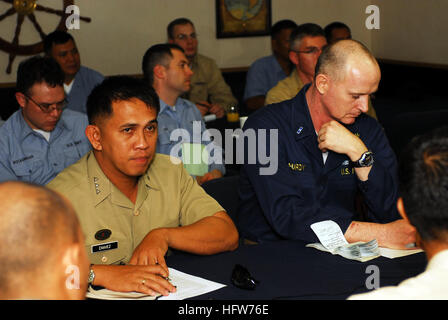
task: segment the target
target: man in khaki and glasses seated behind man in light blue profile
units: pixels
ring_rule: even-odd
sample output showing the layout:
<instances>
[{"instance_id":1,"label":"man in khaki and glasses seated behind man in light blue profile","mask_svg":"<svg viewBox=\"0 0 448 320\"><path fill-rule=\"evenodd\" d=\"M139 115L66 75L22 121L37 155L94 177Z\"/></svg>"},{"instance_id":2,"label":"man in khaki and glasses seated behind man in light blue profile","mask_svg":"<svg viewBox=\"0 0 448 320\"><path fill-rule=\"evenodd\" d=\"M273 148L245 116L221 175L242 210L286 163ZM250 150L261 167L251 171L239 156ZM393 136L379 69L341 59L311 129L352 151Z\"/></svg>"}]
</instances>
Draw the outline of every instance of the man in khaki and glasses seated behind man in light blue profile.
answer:
<instances>
[{"instance_id":1,"label":"man in khaki and glasses seated behind man in light blue profile","mask_svg":"<svg viewBox=\"0 0 448 320\"><path fill-rule=\"evenodd\" d=\"M214 114L216 118L224 117L226 111L238 101L225 82L216 62L198 53L198 39L193 22L178 18L167 27L168 43L177 44L184 49L190 69L191 88L185 98L194 102L202 116Z\"/></svg>"}]
</instances>

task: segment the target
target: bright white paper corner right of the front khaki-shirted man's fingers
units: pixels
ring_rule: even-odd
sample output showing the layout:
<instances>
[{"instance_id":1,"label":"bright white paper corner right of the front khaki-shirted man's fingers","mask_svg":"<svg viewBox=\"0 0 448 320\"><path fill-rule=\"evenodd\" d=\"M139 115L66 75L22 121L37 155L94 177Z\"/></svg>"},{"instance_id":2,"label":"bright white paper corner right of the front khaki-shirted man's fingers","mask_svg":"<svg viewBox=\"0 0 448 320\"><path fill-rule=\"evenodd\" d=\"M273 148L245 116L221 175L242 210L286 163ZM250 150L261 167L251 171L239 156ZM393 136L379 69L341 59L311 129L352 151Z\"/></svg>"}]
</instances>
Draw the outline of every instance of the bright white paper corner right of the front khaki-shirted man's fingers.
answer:
<instances>
[{"instance_id":1,"label":"bright white paper corner right of the front khaki-shirted man's fingers","mask_svg":"<svg viewBox=\"0 0 448 320\"><path fill-rule=\"evenodd\" d=\"M168 296L160 297L159 300L183 300L201 294L215 291L225 287L225 284L195 277L176 269L168 268L170 271L171 283L176 286L177 291Z\"/></svg>"}]
</instances>

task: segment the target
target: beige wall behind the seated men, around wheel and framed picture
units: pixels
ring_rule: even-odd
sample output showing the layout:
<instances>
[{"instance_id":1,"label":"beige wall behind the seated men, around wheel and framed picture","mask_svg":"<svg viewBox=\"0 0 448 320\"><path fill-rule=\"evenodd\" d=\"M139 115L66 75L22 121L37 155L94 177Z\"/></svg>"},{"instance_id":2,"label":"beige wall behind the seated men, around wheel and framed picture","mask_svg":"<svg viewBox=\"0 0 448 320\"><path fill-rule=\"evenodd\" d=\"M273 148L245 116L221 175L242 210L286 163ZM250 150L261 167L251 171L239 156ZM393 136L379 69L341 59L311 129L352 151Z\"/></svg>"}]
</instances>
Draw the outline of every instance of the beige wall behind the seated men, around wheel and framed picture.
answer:
<instances>
[{"instance_id":1,"label":"beige wall behind the seated men, around wheel and framed picture","mask_svg":"<svg viewBox=\"0 0 448 320\"><path fill-rule=\"evenodd\" d=\"M55 7L56 0L39 0ZM265 37L216 39L215 1L213 0L75 0L81 15L92 18L73 30L82 63L105 75L140 73L146 49L166 41L166 25L185 16L196 25L200 51L215 58L222 68L249 66L255 59L270 54L270 39ZM368 30L365 8L377 4L381 12L381 29ZM0 2L0 14L5 8ZM316 22L322 26L340 20L350 25L353 37L364 42L381 58L448 64L447 45L435 41L446 28L442 14L446 0L272 0L272 21L292 19L297 23ZM48 33L56 19L36 13ZM420 26L425 22L430 32ZM15 18L0 22L0 37L12 39ZM416 35L424 46L415 41ZM21 43L39 40L30 22L25 22ZM7 75L8 55L0 51L0 83L15 82L18 56L11 75Z\"/></svg>"}]
</instances>

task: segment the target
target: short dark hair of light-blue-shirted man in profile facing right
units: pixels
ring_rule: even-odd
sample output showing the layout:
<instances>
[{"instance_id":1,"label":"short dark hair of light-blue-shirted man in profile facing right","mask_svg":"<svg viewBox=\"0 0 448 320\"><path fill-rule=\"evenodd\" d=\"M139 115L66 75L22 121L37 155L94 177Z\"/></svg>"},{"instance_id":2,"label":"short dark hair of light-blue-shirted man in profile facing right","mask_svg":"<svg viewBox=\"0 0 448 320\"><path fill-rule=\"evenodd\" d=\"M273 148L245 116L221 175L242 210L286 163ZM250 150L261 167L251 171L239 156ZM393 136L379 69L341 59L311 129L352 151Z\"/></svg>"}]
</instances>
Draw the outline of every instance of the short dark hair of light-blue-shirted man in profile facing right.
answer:
<instances>
[{"instance_id":1,"label":"short dark hair of light-blue-shirted man in profile facing right","mask_svg":"<svg viewBox=\"0 0 448 320\"><path fill-rule=\"evenodd\" d=\"M171 50L179 50L182 53L184 49L174 43L155 44L146 50L142 60L142 72L144 79L151 86L154 84L154 67L161 64L168 67L170 59L173 58Z\"/></svg>"}]
</instances>

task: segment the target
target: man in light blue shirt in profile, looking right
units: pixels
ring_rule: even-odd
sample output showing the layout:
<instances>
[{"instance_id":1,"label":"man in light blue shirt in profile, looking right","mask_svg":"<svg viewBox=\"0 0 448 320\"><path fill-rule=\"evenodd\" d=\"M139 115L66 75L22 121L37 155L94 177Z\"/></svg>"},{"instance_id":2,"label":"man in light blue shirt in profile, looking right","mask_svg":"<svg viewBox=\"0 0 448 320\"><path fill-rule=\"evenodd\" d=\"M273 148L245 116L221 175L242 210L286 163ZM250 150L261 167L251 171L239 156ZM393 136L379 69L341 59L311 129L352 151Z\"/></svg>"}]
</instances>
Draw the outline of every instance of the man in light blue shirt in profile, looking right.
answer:
<instances>
[{"instance_id":1,"label":"man in light blue shirt in profile, looking right","mask_svg":"<svg viewBox=\"0 0 448 320\"><path fill-rule=\"evenodd\" d=\"M183 150L173 150L180 145L180 142L177 141L180 136L177 135L175 140L171 140L173 131L179 129L188 132L188 137L185 137L183 142L189 145L200 143L205 147L202 139L205 138L206 128L201 114L192 102L181 98L181 95L190 89L190 79L193 74L188 67L188 61L182 48L175 44L152 46L143 57L142 69L148 85L154 88L160 99L160 112L157 117L159 130L157 152L167 155L175 153L174 156L178 157L180 151L181 157L183 156ZM208 143L213 143L210 142L210 139L207 140ZM211 163L204 166L205 172L190 172L196 176L199 184L221 178L225 174L222 149L218 150L218 146L215 146L215 152L219 157L219 163L214 163L214 159L211 159ZM189 165L189 161L184 159L184 164ZM187 166L187 171L188 168L190 167ZM192 170L196 171L196 169Z\"/></svg>"}]
</instances>

